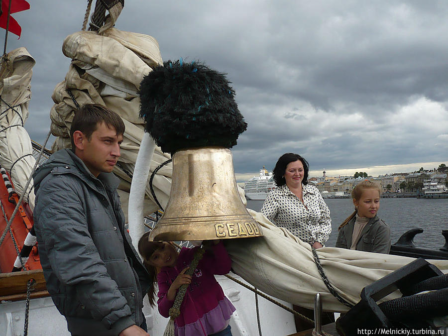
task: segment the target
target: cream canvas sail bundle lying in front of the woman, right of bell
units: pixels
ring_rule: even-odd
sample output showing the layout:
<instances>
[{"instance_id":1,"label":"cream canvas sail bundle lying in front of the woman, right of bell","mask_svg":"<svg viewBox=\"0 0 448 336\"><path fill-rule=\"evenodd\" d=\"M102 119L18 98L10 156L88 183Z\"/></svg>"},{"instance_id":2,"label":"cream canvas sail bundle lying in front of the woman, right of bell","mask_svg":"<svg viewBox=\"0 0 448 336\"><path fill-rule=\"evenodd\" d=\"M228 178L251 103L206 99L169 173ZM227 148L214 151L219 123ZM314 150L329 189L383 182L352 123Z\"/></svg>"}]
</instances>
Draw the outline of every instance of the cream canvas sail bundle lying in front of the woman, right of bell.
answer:
<instances>
[{"instance_id":1,"label":"cream canvas sail bundle lying in front of the woman, right of bell","mask_svg":"<svg viewBox=\"0 0 448 336\"><path fill-rule=\"evenodd\" d=\"M337 301L325 286L310 244L287 229L272 224L264 215L250 209L248 211L261 225L263 236L225 240L232 269L259 290L278 299L313 309L314 296L319 292L324 310L346 312L348 308ZM352 305L359 302L365 286L415 260L337 247L323 247L317 253L336 292ZM448 273L448 260L428 261L443 273ZM381 302L401 296L396 291Z\"/></svg>"}]
</instances>

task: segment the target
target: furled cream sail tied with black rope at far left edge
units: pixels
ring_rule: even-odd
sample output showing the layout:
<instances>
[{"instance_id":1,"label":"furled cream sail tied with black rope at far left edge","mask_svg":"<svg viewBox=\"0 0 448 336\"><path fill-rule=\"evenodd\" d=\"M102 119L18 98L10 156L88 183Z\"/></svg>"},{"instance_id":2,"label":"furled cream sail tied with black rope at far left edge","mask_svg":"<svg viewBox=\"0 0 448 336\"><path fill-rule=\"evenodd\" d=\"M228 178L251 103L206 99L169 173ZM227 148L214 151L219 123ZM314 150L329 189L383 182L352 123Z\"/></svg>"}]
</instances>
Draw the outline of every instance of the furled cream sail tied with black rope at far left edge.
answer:
<instances>
[{"instance_id":1,"label":"furled cream sail tied with black rope at far left edge","mask_svg":"<svg viewBox=\"0 0 448 336\"><path fill-rule=\"evenodd\" d=\"M31 76L35 60L25 48L17 48L1 59L0 69L0 164L12 180L18 195L34 208L33 181L26 182L36 162L31 140L23 127L31 99Z\"/></svg>"}]
</instances>

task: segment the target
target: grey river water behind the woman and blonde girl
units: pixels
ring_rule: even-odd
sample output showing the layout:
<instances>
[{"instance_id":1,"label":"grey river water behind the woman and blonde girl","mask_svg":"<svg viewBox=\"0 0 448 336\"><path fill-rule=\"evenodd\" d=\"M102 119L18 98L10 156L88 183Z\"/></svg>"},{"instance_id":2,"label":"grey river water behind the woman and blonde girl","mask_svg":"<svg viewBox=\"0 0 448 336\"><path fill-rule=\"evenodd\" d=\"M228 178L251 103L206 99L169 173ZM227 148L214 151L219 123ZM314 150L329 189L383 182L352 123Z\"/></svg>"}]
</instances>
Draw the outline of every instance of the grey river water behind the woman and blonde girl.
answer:
<instances>
[{"instance_id":1,"label":"grey river water behind the woman and blonde girl","mask_svg":"<svg viewBox=\"0 0 448 336\"><path fill-rule=\"evenodd\" d=\"M327 246L335 246L338 226L354 210L351 199L325 199L330 208L332 233ZM264 201L247 200L247 208L260 211ZM391 229L395 243L407 230L420 227L414 243L419 247L440 248L445 244L442 230L448 229L448 199L384 198L380 201L378 216Z\"/></svg>"}]
</instances>

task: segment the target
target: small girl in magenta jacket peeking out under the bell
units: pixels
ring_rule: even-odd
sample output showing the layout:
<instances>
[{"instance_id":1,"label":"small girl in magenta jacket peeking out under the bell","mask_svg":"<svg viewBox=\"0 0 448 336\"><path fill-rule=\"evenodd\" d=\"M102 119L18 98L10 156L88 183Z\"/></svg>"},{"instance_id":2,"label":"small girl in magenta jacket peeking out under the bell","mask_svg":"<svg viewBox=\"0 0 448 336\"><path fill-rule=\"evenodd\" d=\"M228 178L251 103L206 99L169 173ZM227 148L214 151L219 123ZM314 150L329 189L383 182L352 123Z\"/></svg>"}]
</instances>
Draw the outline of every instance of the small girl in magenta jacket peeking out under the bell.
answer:
<instances>
[{"instance_id":1,"label":"small girl in magenta jacket peeking out under the bell","mask_svg":"<svg viewBox=\"0 0 448 336\"><path fill-rule=\"evenodd\" d=\"M169 317L177 290L188 284L180 307L180 315L174 320L175 334L179 336L231 336L229 320L235 307L225 297L214 274L227 274L231 260L221 241L216 241L204 253L192 276L185 274L199 247L183 247L180 252L169 242L148 241L146 232L138 242L138 250L144 265L152 276L148 290L151 306L154 306L154 282L157 277L159 292L157 305L164 317ZM157 275L156 275L157 274Z\"/></svg>"}]
</instances>

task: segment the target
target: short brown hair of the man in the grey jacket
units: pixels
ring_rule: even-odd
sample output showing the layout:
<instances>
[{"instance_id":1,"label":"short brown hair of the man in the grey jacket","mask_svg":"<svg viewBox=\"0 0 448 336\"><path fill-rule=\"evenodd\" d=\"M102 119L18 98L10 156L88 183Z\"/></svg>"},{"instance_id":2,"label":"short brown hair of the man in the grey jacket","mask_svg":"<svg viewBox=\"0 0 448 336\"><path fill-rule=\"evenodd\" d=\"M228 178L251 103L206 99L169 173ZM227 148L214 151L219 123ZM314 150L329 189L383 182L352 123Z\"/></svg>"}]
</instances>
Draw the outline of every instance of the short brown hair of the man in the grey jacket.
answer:
<instances>
[{"instance_id":1,"label":"short brown hair of the man in the grey jacket","mask_svg":"<svg viewBox=\"0 0 448 336\"><path fill-rule=\"evenodd\" d=\"M72 141L72 150L75 150L75 143L73 142L73 133L77 130L83 134L90 141L92 133L96 131L98 125L104 122L108 127L115 128L117 135L124 134L124 122L121 117L100 104L85 104L73 117L72 126L70 127L70 138Z\"/></svg>"}]
</instances>

